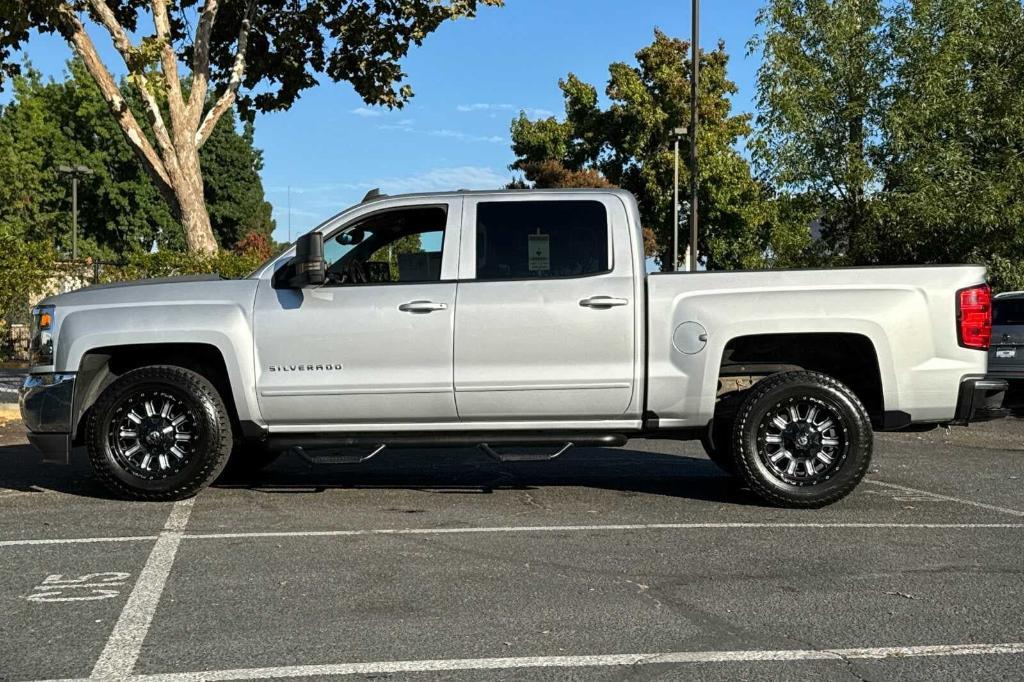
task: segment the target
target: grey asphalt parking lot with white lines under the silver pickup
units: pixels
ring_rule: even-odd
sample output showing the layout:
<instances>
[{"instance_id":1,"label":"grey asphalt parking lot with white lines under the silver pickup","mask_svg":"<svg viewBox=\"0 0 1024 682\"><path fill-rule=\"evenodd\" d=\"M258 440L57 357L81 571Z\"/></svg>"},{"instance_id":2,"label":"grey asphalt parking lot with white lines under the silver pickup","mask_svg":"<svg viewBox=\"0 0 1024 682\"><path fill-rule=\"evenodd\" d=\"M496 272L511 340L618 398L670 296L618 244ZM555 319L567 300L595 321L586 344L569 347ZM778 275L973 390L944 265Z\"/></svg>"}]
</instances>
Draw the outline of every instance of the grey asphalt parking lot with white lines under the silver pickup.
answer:
<instances>
[{"instance_id":1,"label":"grey asphalt parking lot with white lines under the silver pickup","mask_svg":"<svg viewBox=\"0 0 1024 682\"><path fill-rule=\"evenodd\" d=\"M817 511L696 443L286 458L110 500L0 430L0 680L1022 679L1024 422L885 434Z\"/></svg>"}]
</instances>

